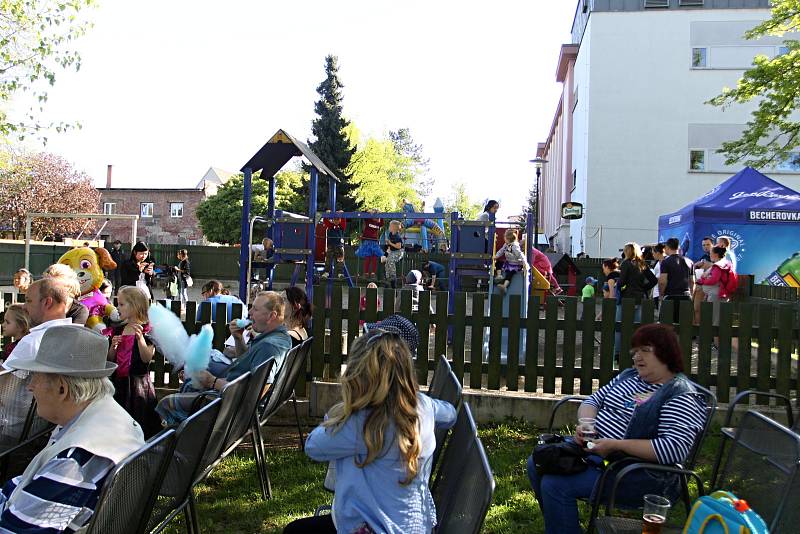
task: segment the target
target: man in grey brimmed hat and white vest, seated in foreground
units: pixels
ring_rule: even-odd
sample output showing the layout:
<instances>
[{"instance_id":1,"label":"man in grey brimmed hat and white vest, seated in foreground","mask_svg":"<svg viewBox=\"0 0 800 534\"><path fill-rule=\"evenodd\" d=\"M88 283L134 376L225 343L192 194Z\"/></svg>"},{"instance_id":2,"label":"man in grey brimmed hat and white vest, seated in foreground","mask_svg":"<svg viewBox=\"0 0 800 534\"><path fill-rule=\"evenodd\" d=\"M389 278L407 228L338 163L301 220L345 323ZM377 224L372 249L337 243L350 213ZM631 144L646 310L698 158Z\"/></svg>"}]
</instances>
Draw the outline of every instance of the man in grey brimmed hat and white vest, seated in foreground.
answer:
<instances>
[{"instance_id":1,"label":"man in grey brimmed hat and white vest, seated in foreground","mask_svg":"<svg viewBox=\"0 0 800 534\"><path fill-rule=\"evenodd\" d=\"M77 325L47 329L33 359L28 390L40 417L56 429L25 472L0 493L0 532L75 532L94 512L116 464L144 444L142 429L114 401L108 339Z\"/></svg>"}]
</instances>

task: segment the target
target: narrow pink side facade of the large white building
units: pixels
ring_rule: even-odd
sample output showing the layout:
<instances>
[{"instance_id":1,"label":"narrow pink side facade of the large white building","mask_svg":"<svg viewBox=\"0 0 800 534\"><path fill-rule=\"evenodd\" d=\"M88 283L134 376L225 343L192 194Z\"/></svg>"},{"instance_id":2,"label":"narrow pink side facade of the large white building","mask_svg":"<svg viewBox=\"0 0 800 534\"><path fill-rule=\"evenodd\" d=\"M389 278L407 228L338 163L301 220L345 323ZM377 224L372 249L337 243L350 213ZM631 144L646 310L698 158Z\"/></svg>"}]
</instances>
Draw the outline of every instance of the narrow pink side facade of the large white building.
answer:
<instances>
[{"instance_id":1,"label":"narrow pink side facade of the large white building","mask_svg":"<svg viewBox=\"0 0 800 534\"><path fill-rule=\"evenodd\" d=\"M572 168L572 112L578 102L574 88L575 59L578 45L562 45L558 57L556 80L561 82L561 98L553 118L553 125L544 143L539 143L536 155L547 160L542 168L539 191L540 232L550 240L558 252L569 253L574 247L570 243L569 221L561 218L561 204L571 200L575 188Z\"/></svg>"}]
</instances>

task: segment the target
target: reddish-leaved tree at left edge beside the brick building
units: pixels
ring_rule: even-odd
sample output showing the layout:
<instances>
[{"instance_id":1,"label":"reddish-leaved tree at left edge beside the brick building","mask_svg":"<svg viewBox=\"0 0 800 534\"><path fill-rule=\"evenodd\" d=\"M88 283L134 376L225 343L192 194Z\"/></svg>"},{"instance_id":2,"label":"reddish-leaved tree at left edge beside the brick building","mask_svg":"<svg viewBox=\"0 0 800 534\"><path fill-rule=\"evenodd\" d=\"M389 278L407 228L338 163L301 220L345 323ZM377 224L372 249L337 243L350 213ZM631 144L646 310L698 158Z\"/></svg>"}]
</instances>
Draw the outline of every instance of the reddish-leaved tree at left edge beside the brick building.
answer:
<instances>
[{"instance_id":1,"label":"reddish-leaved tree at left edge beside the brick building","mask_svg":"<svg viewBox=\"0 0 800 534\"><path fill-rule=\"evenodd\" d=\"M10 154L0 167L0 224L14 239L25 235L28 213L94 213L100 193L83 171L53 154ZM43 239L92 229L85 219L33 219L31 235Z\"/></svg>"}]
</instances>

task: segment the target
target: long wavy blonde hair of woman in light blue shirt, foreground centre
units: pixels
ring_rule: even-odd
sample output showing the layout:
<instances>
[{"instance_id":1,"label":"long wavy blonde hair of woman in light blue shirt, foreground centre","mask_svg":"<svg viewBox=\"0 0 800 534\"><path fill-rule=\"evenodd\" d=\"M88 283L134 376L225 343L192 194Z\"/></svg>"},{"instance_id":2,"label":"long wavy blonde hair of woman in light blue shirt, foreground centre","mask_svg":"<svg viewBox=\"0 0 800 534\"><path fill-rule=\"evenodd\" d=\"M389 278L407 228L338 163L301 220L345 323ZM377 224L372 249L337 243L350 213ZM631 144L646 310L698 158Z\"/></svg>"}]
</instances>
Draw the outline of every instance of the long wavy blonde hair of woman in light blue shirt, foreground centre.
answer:
<instances>
[{"instance_id":1,"label":"long wavy blonde hair of woman in light blue shirt, foreground centre","mask_svg":"<svg viewBox=\"0 0 800 534\"><path fill-rule=\"evenodd\" d=\"M422 443L417 415L417 380L411 352L399 335L386 330L363 335L349 351L342 375L342 402L328 412L323 423L338 431L359 410L369 410L364 423L367 457L356 465L369 465L383 450L386 428L394 422L397 445L405 461L409 484L419 472Z\"/></svg>"}]
</instances>

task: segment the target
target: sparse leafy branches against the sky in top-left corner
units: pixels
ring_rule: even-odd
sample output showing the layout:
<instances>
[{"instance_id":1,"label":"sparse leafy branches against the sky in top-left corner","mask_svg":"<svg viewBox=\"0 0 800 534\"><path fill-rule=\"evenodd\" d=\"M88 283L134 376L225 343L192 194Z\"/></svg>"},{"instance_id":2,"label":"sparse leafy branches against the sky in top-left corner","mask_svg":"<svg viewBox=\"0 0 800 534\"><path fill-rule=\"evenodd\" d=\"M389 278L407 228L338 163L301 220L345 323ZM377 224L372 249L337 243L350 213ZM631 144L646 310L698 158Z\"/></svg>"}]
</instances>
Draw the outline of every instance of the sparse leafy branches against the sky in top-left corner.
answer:
<instances>
[{"instance_id":1,"label":"sparse leafy branches against the sky in top-left corner","mask_svg":"<svg viewBox=\"0 0 800 534\"><path fill-rule=\"evenodd\" d=\"M81 58L72 42L86 33L84 8L95 0L0 0L0 139L19 140L36 133L47 142L46 131L75 125L41 122L47 88L56 82L56 70L80 69ZM30 93L35 104L24 116L9 115L10 101Z\"/></svg>"}]
</instances>

